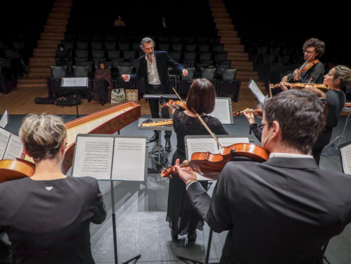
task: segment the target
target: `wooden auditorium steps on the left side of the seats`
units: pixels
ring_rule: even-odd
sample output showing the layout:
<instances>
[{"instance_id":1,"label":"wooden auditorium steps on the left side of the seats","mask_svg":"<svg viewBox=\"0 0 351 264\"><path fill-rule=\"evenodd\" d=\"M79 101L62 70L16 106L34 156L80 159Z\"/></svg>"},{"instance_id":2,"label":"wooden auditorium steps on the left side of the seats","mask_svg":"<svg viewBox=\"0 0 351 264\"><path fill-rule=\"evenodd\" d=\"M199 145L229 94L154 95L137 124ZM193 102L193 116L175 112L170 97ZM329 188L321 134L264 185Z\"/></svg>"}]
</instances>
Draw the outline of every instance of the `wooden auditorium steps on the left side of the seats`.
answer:
<instances>
[{"instance_id":1,"label":"wooden auditorium steps on the left side of the seats","mask_svg":"<svg viewBox=\"0 0 351 264\"><path fill-rule=\"evenodd\" d=\"M46 79L51 77L50 65L55 65L55 52L61 40L65 39L66 25L71 12L72 0L56 0L46 19L44 31L29 61L29 74L17 80L17 87L46 87Z\"/></svg>"}]
</instances>

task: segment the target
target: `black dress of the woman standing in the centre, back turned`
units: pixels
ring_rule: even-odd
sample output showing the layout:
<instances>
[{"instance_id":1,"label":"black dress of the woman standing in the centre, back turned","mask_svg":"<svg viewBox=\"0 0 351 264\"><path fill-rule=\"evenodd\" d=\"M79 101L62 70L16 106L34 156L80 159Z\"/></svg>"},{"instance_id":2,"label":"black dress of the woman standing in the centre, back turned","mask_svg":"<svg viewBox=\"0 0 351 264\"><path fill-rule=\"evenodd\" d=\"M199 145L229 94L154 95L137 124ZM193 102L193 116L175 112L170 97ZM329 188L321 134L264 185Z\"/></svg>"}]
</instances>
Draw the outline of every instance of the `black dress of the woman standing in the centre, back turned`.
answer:
<instances>
[{"instance_id":1,"label":"black dress of the woman standing in the centre, back turned","mask_svg":"<svg viewBox=\"0 0 351 264\"><path fill-rule=\"evenodd\" d=\"M228 135L222 123L215 117L208 115L202 116L202 120L210 127L215 135ZM173 127L177 134L177 150L173 154L172 166L177 158L182 163L185 159L185 136L191 135L210 135L197 117L191 117L182 110L173 113ZM201 181L201 185L207 190L208 181ZM166 221L169 227L176 233L183 236L195 229L202 230L203 219L191 205L185 190L185 183L179 176L174 176L169 180L168 206Z\"/></svg>"}]
</instances>

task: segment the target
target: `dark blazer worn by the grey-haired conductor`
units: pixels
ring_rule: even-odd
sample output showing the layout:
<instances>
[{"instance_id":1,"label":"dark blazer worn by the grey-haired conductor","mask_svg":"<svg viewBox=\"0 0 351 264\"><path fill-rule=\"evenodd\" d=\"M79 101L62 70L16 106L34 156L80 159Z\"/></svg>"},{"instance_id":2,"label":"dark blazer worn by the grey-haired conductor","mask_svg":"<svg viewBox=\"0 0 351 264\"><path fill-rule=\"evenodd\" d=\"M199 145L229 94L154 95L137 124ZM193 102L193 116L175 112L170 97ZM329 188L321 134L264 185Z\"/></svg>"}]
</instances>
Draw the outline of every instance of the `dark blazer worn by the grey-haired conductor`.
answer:
<instances>
[{"instance_id":1,"label":"dark blazer worn by the grey-haired conductor","mask_svg":"<svg viewBox=\"0 0 351 264\"><path fill-rule=\"evenodd\" d=\"M178 71L180 74L183 73L184 67L174 62L166 51L154 51L156 57L157 72L160 77L161 85L165 93L172 93L172 86L170 85L170 78L168 74L168 66L172 67L173 70ZM148 65L145 55L141 56L138 60L138 69L136 73L130 75L130 81L136 82L141 78L144 79L145 89L148 92L149 77L148 77Z\"/></svg>"}]
</instances>

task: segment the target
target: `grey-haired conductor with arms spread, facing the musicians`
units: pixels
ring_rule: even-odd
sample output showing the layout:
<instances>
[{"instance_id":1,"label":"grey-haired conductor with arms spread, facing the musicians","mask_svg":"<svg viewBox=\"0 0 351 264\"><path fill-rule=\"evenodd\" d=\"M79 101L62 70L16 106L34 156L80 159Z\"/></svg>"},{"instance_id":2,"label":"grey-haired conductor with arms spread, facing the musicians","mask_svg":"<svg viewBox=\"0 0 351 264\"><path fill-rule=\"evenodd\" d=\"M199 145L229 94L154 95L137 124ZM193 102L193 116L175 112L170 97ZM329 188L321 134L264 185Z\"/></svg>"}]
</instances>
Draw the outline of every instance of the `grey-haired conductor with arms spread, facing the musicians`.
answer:
<instances>
[{"instance_id":1,"label":"grey-haired conductor with arms spread, facing the musicians","mask_svg":"<svg viewBox=\"0 0 351 264\"><path fill-rule=\"evenodd\" d=\"M172 86L168 74L168 67L172 67L174 70L183 74L188 75L188 71L184 67L174 62L166 51L154 51L154 41L150 38L143 38L141 40L141 49L146 55L141 56L138 61L138 69L136 73L132 75L122 75L123 80L136 82L141 78L144 79L144 85L148 94L165 94L172 93ZM160 118L159 116L159 100L149 99L149 105L151 110L152 118ZM162 101L161 101L162 103ZM161 109L161 117L169 119L168 108ZM150 139L150 142L154 142L159 138L159 132L154 130L155 135ZM166 150L170 150L170 136L171 131L165 131Z\"/></svg>"}]
</instances>

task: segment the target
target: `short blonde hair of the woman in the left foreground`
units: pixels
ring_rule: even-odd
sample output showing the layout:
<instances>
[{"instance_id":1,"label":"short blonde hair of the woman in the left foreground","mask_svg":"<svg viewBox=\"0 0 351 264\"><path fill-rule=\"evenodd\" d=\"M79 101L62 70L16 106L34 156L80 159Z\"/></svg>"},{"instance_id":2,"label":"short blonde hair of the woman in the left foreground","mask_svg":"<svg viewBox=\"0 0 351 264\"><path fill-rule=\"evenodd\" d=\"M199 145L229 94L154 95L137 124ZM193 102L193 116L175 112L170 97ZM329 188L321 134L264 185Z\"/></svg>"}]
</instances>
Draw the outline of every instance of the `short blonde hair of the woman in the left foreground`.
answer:
<instances>
[{"instance_id":1,"label":"short blonde hair of the woman in the left foreground","mask_svg":"<svg viewBox=\"0 0 351 264\"><path fill-rule=\"evenodd\" d=\"M19 130L28 154L35 160L54 158L67 138L67 130L61 117L47 114L29 114Z\"/></svg>"}]
</instances>

